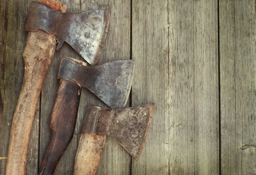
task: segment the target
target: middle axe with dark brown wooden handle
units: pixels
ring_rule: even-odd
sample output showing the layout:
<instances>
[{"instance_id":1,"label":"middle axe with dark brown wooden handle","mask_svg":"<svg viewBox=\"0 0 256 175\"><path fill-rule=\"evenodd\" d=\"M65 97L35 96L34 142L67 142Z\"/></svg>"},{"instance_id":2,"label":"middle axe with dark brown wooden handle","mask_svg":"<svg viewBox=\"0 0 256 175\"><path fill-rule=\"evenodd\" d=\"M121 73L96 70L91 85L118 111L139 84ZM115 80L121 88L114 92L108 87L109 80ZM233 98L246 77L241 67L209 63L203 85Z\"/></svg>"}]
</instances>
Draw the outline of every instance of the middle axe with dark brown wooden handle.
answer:
<instances>
[{"instance_id":1,"label":"middle axe with dark brown wooden handle","mask_svg":"<svg viewBox=\"0 0 256 175\"><path fill-rule=\"evenodd\" d=\"M62 58L60 80L50 127L52 138L41 164L39 175L53 175L62 154L70 143L76 126L81 86L89 89L111 108L124 107L131 90L133 60L120 60L87 67L73 58ZM65 83L64 83L65 82Z\"/></svg>"}]
</instances>

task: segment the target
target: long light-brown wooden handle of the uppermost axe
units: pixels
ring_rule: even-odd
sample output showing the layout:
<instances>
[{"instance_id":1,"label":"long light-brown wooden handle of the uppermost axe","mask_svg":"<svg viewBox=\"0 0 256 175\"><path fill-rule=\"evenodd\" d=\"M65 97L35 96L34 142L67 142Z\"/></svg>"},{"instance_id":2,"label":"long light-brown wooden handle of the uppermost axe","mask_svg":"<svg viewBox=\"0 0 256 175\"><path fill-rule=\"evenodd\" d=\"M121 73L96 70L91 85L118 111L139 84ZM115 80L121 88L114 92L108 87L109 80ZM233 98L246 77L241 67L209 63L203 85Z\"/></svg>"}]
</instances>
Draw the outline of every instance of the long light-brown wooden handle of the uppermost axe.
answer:
<instances>
[{"instance_id":1,"label":"long light-brown wooden handle of the uppermost axe","mask_svg":"<svg viewBox=\"0 0 256 175\"><path fill-rule=\"evenodd\" d=\"M55 3L51 3L55 2ZM64 10L57 0L39 0L46 6L56 10ZM7 155L6 175L26 175L27 152L30 132L34 120L36 106L55 52L56 40L51 35L38 30L29 32L23 52L25 72L17 106L13 115L12 129Z\"/></svg>"}]
</instances>

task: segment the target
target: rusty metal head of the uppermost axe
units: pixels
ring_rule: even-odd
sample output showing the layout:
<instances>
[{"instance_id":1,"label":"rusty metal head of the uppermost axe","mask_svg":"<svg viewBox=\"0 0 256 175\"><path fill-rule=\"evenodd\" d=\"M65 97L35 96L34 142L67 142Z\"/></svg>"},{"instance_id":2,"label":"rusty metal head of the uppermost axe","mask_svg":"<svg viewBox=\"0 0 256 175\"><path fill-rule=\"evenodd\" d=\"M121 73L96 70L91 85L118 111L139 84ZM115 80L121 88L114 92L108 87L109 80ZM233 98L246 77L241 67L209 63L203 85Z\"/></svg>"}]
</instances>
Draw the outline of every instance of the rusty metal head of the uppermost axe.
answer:
<instances>
[{"instance_id":1,"label":"rusty metal head of the uppermost axe","mask_svg":"<svg viewBox=\"0 0 256 175\"><path fill-rule=\"evenodd\" d=\"M65 41L90 65L96 65L108 31L109 17L110 11L106 10L72 14L32 2L29 7L25 30L44 30L58 40L57 50Z\"/></svg>"}]
</instances>

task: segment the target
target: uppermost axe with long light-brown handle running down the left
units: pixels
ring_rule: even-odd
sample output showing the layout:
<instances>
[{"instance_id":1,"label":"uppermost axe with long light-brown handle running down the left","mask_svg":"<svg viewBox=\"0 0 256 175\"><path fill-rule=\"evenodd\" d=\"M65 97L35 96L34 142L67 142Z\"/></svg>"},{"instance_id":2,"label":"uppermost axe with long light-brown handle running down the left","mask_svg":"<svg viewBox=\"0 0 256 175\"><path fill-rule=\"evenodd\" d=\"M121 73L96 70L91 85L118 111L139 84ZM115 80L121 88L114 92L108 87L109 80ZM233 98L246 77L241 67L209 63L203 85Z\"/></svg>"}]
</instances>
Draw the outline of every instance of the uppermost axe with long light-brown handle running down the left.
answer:
<instances>
[{"instance_id":1,"label":"uppermost axe with long light-brown handle running down the left","mask_svg":"<svg viewBox=\"0 0 256 175\"><path fill-rule=\"evenodd\" d=\"M109 11L63 13L66 9L67 6L62 6L58 0L39 0L29 7L25 30L30 32L23 52L25 72L13 115L6 175L26 174L30 132L56 41L59 43L57 50L66 41L91 65L99 60L108 29Z\"/></svg>"}]
</instances>

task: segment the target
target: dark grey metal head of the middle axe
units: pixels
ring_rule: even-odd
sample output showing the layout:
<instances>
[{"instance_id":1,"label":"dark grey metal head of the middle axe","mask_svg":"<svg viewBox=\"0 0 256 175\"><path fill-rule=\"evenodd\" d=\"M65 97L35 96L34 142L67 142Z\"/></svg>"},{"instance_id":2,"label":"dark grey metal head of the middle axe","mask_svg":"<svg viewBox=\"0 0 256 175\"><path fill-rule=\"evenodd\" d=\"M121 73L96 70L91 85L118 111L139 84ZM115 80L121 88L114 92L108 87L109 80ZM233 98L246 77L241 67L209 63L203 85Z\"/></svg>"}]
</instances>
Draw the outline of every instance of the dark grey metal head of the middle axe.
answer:
<instances>
[{"instance_id":1,"label":"dark grey metal head of the middle axe","mask_svg":"<svg viewBox=\"0 0 256 175\"><path fill-rule=\"evenodd\" d=\"M100 66L85 67L62 58L58 78L75 80L109 107L122 108L125 107L131 90L133 68L133 60L113 61Z\"/></svg>"}]
</instances>

